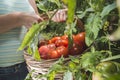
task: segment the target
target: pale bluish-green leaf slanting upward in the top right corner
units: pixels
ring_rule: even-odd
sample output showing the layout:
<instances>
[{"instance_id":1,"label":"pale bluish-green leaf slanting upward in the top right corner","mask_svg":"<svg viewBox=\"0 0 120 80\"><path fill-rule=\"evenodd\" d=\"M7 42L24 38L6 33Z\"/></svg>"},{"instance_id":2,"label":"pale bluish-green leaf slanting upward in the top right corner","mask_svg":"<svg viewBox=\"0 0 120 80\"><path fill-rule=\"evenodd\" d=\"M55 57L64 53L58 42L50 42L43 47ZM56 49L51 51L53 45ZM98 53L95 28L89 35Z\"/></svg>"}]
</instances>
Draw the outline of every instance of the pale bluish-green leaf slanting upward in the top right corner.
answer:
<instances>
[{"instance_id":1,"label":"pale bluish-green leaf slanting upward in the top right corner","mask_svg":"<svg viewBox=\"0 0 120 80\"><path fill-rule=\"evenodd\" d=\"M107 5L106 7L104 7L103 11L101 12L101 17L102 18L105 17L110 13L110 11L112 11L115 8L116 8L116 2Z\"/></svg>"}]
</instances>

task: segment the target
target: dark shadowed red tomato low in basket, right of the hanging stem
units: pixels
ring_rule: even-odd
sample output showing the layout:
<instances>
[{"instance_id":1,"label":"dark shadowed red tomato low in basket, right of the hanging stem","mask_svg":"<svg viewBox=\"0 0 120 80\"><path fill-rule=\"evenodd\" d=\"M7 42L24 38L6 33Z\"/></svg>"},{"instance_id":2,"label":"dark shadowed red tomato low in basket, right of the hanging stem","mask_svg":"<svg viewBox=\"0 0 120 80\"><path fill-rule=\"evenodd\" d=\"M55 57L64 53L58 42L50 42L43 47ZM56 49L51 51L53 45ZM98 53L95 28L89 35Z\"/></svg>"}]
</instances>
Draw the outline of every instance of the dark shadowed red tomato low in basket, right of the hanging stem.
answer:
<instances>
[{"instance_id":1,"label":"dark shadowed red tomato low in basket, right of the hanging stem","mask_svg":"<svg viewBox=\"0 0 120 80\"><path fill-rule=\"evenodd\" d=\"M69 53L71 55L77 55L77 54L81 54L83 52L83 46L78 45L76 43L73 43L72 48L69 50Z\"/></svg>"}]
</instances>

